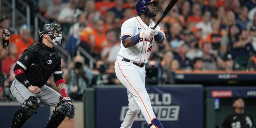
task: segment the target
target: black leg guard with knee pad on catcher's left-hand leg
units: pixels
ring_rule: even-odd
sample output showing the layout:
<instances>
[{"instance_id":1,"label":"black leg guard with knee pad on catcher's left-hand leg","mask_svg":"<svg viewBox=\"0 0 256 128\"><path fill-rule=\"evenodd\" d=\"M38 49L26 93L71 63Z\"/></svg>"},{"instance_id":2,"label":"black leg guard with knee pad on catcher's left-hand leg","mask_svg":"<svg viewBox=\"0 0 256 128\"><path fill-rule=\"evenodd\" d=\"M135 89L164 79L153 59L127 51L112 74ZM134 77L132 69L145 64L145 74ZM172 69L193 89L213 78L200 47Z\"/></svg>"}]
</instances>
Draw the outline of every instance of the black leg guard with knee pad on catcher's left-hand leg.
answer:
<instances>
[{"instance_id":1,"label":"black leg guard with knee pad on catcher's left-hand leg","mask_svg":"<svg viewBox=\"0 0 256 128\"><path fill-rule=\"evenodd\" d=\"M40 106L40 100L35 96L30 96L27 100L25 100L24 105L15 112L11 128L22 127L30 116L36 114L36 110Z\"/></svg>"}]
</instances>

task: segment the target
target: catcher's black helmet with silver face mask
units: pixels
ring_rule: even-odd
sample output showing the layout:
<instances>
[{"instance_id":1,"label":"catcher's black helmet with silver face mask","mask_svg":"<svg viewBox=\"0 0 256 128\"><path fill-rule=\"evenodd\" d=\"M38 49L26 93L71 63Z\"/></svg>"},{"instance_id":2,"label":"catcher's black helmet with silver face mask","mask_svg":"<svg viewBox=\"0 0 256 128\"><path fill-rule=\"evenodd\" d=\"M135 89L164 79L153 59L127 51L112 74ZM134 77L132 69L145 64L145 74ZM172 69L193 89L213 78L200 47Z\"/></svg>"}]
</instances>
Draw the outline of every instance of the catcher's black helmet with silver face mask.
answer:
<instances>
[{"instance_id":1,"label":"catcher's black helmet with silver face mask","mask_svg":"<svg viewBox=\"0 0 256 128\"><path fill-rule=\"evenodd\" d=\"M54 35L54 32L52 30L56 30L58 33L58 36ZM42 42L42 36L43 34L48 34L50 38L52 39L52 43L55 45L64 45L62 42L62 28L59 23L51 23L51 24L44 24L44 26L40 29L38 32L40 38L39 42Z\"/></svg>"}]
</instances>

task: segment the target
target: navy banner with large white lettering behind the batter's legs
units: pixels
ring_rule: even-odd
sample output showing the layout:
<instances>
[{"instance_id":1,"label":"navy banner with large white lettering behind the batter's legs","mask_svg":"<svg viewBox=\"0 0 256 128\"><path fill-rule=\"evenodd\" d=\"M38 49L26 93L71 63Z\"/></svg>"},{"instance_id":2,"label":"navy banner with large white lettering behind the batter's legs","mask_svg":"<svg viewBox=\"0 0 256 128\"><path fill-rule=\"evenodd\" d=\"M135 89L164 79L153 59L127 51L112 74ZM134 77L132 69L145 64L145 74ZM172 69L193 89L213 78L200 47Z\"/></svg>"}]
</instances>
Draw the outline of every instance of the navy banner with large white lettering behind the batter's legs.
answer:
<instances>
[{"instance_id":1,"label":"navy banner with large white lettering behind the batter's legs","mask_svg":"<svg viewBox=\"0 0 256 128\"><path fill-rule=\"evenodd\" d=\"M202 86L147 86L146 90L154 113L165 128L202 128ZM127 111L126 88L96 88L96 128L120 128ZM132 128L147 127L140 112Z\"/></svg>"}]
</instances>

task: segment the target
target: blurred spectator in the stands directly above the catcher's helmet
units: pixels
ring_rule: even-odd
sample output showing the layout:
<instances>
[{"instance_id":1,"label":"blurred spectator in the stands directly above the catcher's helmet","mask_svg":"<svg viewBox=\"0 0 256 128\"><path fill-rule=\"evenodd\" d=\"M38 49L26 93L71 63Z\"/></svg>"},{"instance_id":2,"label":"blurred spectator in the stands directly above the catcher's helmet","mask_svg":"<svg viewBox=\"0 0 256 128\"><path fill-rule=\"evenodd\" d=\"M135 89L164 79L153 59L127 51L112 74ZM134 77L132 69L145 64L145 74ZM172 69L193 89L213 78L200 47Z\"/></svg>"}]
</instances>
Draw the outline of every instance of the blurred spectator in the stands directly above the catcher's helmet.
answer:
<instances>
[{"instance_id":1,"label":"blurred spectator in the stands directly above the catcher's helmet","mask_svg":"<svg viewBox=\"0 0 256 128\"><path fill-rule=\"evenodd\" d=\"M66 4L62 3L62 0L51 0L53 3L50 4L46 10L46 18L50 22L57 22L57 17L60 14L62 8L66 6Z\"/></svg>"}]
</instances>

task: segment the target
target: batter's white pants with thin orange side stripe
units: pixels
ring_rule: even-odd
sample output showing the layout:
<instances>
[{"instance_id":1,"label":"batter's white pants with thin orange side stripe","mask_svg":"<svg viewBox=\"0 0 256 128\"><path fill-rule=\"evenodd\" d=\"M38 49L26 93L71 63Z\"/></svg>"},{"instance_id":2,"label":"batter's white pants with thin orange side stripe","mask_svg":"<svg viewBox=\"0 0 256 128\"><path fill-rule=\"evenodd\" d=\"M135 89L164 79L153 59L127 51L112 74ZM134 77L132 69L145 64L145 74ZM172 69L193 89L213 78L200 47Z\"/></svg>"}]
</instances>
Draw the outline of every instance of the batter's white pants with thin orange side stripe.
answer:
<instances>
[{"instance_id":1,"label":"batter's white pants with thin orange side stripe","mask_svg":"<svg viewBox=\"0 0 256 128\"><path fill-rule=\"evenodd\" d=\"M126 113L124 122L121 124L121 128L131 128L140 110L146 122L151 124L151 120L156 116L145 88L145 67L140 68L130 62L117 60L115 63L115 72L118 80L127 89L129 101L129 110Z\"/></svg>"}]
</instances>

